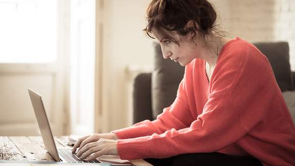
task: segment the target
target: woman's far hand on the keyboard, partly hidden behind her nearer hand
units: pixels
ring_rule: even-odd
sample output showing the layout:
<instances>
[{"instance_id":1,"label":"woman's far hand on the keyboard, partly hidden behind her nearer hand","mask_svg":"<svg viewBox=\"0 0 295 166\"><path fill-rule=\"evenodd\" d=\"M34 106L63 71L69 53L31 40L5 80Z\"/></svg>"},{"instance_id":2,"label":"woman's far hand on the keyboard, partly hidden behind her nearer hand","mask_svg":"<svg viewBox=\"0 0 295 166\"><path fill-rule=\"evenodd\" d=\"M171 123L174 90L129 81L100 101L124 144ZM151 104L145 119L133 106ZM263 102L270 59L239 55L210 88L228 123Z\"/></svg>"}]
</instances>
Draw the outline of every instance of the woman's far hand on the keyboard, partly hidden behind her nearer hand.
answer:
<instances>
[{"instance_id":1,"label":"woman's far hand on the keyboard, partly hidden behind her nearer hand","mask_svg":"<svg viewBox=\"0 0 295 166\"><path fill-rule=\"evenodd\" d=\"M87 143L98 141L100 138L117 140L118 137L115 133L103 133L103 134L92 134L85 137L79 138L72 149L72 153L75 153L77 148L82 149Z\"/></svg>"}]
</instances>

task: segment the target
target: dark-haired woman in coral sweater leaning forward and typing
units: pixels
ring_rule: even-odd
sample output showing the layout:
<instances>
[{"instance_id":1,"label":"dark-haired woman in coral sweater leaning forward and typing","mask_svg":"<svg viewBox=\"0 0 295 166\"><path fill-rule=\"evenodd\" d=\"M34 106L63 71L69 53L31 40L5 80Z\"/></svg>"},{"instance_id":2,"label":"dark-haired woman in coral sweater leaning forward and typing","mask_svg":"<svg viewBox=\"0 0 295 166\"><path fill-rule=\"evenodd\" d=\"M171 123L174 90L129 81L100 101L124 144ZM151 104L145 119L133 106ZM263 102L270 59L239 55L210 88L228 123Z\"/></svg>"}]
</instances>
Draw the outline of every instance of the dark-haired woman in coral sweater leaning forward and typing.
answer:
<instances>
[{"instance_id":1,"label":"dark-haired woman in coral sweater leaning forward and typing","mask_svg":"<svg viewBox=\"0 0 295 166\"><path fill-rule=\"evenodd\" d=\"M174 103L154 121L80 138L81 159L102 154L154 165L295 165L295 126L267 58L223 37L206 0L153 0L146 33L185 66Z\"/></svg>"}]
</instances>

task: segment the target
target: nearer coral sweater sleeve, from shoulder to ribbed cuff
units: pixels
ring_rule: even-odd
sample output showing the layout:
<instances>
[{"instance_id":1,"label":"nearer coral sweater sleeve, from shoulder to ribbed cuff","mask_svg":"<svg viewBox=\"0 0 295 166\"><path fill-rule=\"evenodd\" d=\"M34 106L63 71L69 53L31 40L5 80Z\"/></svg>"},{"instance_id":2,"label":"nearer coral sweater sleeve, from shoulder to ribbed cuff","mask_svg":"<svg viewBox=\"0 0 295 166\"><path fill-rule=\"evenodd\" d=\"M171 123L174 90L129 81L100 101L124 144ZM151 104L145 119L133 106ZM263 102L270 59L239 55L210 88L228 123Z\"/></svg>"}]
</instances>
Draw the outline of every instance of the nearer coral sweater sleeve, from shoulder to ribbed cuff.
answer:
<instances>
[{"instance_id":1,"label":"nearer coral sweater sleeve, from shoulder to ribbed cuff","mask_svg":"<svg viewBox=\"0 0 295 166\"><path fill-rule=\"evenodd\" d=\"M255 56L261 54L255 52ZM119 139L119 156L122 159L164 158L216 152L238 141L261 122L266 102L271 101L272 95L265 82L269 82L269 77L274 79L266 57L254 60L248 56L225 57L219 64L212 76L211 92L203 113L191 126Z\"/></svg>"}]
</instances>

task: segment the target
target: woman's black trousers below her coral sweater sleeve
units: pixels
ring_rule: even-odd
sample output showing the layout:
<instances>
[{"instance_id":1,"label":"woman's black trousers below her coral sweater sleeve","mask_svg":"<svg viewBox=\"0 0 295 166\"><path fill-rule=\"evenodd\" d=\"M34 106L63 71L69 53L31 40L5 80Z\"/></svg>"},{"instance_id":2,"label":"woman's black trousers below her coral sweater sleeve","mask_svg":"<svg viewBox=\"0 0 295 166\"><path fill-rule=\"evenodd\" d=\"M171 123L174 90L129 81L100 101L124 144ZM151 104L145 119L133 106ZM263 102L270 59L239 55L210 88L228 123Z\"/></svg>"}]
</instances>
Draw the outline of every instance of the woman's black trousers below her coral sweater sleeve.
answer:
<instances>
[{"instance_id":1,"label":"woman's black trousers below her coral sweater sleeve","mask_svg":"<svg viewBox=\"0 0 295 166\"><path fill-rule=\"evenodd\" d=\"M145 161L153 164L154 166L183 166L183 165L247 165L247 166L260 166L262 163L253 157L228 155L224 153L191 153L173 156L169 158L157 159L147 158Z\"/></svg>"}]
</instances>

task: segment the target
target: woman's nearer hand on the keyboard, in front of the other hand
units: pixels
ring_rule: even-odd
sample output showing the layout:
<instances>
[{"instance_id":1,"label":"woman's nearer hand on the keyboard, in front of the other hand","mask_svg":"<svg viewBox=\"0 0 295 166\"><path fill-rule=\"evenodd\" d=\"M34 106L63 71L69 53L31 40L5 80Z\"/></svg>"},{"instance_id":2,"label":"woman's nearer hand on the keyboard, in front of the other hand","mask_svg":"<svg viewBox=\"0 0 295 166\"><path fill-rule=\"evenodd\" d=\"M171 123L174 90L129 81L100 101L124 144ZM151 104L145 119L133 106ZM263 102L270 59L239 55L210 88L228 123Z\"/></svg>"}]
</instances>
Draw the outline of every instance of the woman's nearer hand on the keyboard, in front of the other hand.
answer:
<instances>
[{"instance_id":1,"label":"woman's nearer hand on the keyboard, in front of the other hand","mask_svg":"<svg viewBox=\"0 0 295 166\"><path fill-rule=\"evenodd\" d=\"M93 160L101 155L118 155L117 140L100 138L98 141L87 143L76 154L81 160Z\"/></svg>"}]
</instances>

